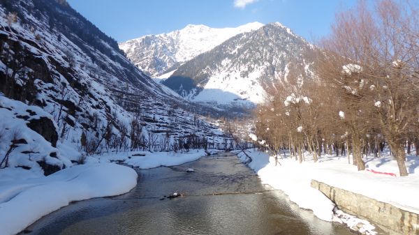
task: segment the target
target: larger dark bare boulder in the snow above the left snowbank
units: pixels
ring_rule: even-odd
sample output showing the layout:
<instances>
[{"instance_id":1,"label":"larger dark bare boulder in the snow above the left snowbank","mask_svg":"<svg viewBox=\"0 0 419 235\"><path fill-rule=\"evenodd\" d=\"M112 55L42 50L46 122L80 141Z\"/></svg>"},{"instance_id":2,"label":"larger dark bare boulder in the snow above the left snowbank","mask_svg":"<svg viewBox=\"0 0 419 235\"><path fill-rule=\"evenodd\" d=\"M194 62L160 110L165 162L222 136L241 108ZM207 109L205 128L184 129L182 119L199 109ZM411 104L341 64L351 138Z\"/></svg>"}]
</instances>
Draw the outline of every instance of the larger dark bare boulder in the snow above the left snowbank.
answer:
<instances>
[{"instance_id":1,"label":"larger dark bare boulder in the snow above the left snowbank","mask_svg":"<svg viewBox=\"0 0 419 235\"><path fill-rule=\"evenodd\" d=\"M53 147L57 147L58 133L57 130L55 130L54 123L51 119L41 116L40 119L32 119L29 121L27 126L39 135L42 135Z\"/></svg>"}]
</instances>

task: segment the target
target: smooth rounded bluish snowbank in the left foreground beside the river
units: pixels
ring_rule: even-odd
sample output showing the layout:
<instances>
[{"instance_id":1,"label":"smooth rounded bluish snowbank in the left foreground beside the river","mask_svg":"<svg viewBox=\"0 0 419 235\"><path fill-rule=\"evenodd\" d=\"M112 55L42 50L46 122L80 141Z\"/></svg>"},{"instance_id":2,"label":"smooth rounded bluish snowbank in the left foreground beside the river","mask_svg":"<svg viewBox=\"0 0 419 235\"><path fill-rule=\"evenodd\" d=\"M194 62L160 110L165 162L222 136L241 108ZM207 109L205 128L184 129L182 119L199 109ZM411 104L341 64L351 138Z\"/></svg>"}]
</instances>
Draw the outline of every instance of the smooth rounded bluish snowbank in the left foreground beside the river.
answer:
<instances>
[{"instance_id":1,"label":"smooth rounded bluish snowbank in the left foreground beside the river","mask_svg":"<svg viewBox=\"0 0 419 235\"><path fill-rule=\"evenodd\" d=\"M70 202L128 192L137 183L135 170L101 163L78 165L50 176L24 169L0 171L0 234L17 234Z\"/></svg>"}]
</instances>

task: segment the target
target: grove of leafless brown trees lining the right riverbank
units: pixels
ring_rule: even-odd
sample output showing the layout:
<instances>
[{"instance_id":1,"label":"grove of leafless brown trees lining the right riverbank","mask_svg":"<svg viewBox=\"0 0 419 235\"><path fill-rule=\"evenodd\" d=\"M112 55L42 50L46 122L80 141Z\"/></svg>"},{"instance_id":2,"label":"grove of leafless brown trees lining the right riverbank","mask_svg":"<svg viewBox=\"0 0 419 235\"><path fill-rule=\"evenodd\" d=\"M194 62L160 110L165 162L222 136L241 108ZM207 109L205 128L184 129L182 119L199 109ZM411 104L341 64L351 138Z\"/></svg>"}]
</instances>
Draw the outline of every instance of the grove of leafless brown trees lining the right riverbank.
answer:
<instances>
[{"instance_id":1,"label":"grove of leafless brown trees lining the right riverbank","mask_svg":"<svg viewBox=\"0 0 419 235\"><path fill-rule=\"evenodd\" d=\"M315 160L322 148L351 149L360 170L362 153L372 144L377 149L384 136L400 175L407 175L404 143L412 130L419 132L417 13L409 1L382 0L374 10L360 1L338 14L331 36L313 55L318 79L291 67L281 79L286 82L272 86L258 107L257 135L269 146L281 143L300 153L300 162L303 148Z\"/></svg>"}]
</instances>

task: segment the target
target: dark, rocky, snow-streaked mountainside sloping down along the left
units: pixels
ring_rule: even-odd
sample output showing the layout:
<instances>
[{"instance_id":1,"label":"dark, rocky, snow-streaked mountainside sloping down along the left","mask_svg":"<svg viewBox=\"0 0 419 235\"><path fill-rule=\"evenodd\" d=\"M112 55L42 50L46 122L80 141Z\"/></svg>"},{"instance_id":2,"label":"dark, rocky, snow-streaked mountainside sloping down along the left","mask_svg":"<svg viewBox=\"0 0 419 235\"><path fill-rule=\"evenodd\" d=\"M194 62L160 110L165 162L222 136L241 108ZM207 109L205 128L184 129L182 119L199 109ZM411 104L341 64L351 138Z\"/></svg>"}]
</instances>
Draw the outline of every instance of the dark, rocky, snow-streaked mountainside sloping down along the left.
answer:
<instances>
[{"instance_id":1,"label":"dark, rocky, snow-streaked mountainside sloping down along the left","mask_svg":"<svg viewBox=\"0 0 419 235\"><path fill-rule=\"evenodd\" d=\"M65 0L0 0L0 168L50 174L108 149L221 143L200 116L213 110L154 82Z\"/></svg>"}]
</instances>

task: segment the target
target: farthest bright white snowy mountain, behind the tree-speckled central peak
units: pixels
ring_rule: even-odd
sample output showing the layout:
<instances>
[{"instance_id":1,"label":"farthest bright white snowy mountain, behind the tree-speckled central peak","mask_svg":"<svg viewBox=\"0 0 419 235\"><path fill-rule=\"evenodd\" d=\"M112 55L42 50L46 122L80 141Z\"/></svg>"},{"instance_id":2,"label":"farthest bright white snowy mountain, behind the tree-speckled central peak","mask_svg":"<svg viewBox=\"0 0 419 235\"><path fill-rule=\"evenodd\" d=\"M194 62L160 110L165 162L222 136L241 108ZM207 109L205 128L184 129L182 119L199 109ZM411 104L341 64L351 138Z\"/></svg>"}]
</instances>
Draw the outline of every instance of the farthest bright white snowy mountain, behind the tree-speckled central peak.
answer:
<instances>
[{"instance_id":1,"label":"farthest bright white snowy mountain, behind the tree-speckled central peak","mask_svg":"<svg viewBox=\"0 0 419 235\"><path fill-rule=\"evenodd\" d=\"M142 36L119 43L128 59L152 77L158 77L180 64L223 43L237 34L259 29L263 24L253 22L237 28L214 29L189 24L184 29L158 35Z\"/></svg>"}]
</instances>

